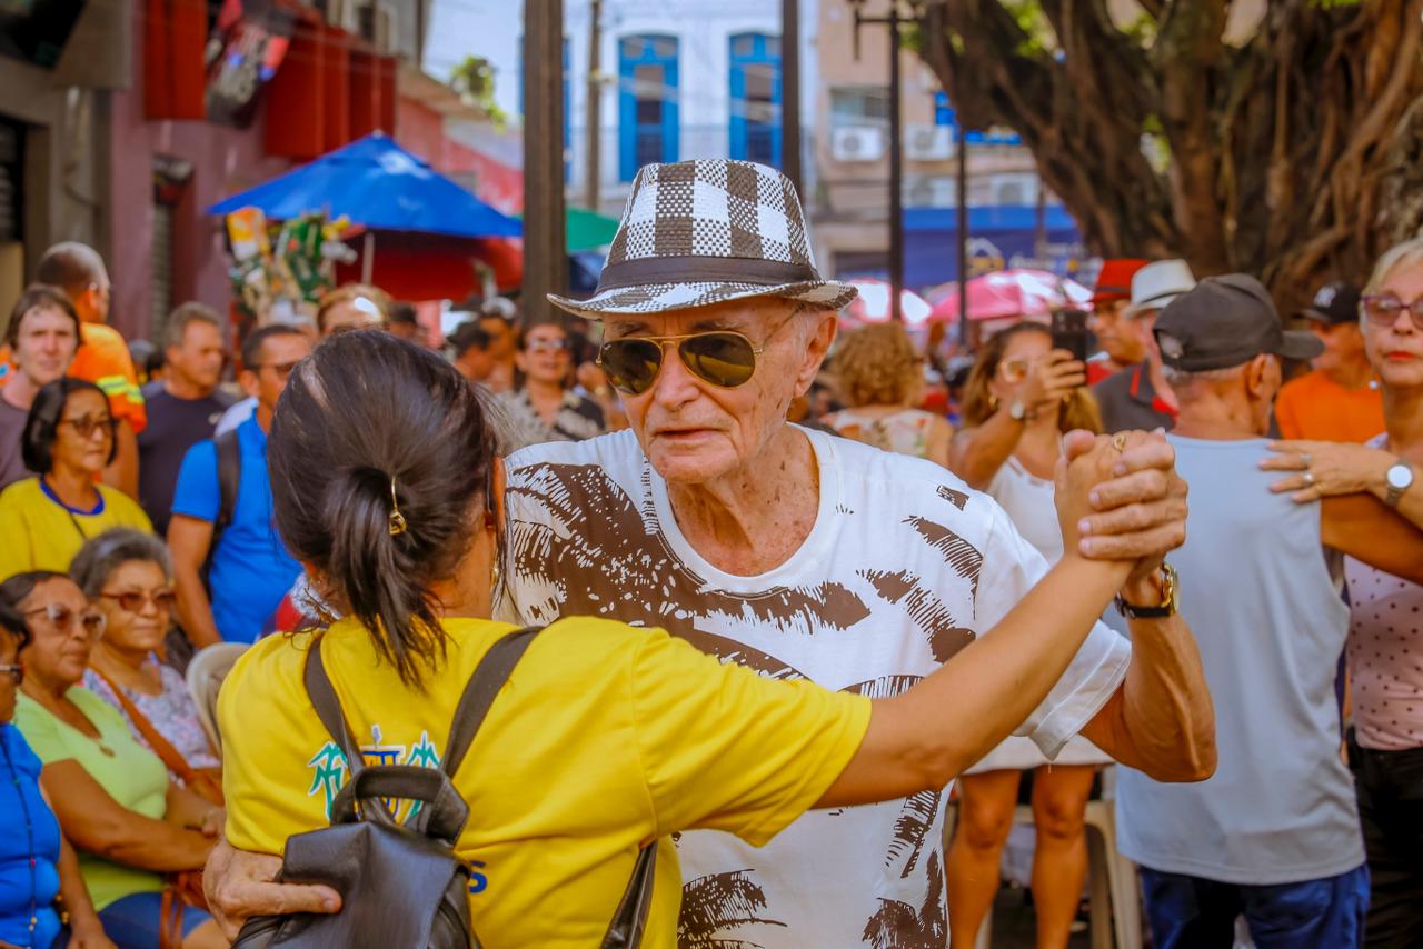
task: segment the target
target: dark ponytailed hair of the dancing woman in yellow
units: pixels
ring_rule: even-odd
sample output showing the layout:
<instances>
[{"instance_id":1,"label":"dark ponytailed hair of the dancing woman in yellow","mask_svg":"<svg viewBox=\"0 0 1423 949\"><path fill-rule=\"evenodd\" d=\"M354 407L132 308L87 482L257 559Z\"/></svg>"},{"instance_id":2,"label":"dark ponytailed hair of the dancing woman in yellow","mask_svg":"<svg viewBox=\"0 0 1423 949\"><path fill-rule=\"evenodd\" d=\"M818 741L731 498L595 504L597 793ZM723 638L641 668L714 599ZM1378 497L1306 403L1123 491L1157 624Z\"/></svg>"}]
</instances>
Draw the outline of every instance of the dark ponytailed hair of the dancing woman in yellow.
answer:
<instances>
[{"instance_id":1,"label":"dark ponytailed hair of the dancing woman in yellow","mask_svg":"<svg viewBox=\"0 0 1423 949\"><path fill-rule=\"evenodd\" d=\"M377 330L324 341L277 404L268 464L282 539L407 684L444 659L431 586L465 553L492 461L475 388Z\"/></svg>"}]
</instances>

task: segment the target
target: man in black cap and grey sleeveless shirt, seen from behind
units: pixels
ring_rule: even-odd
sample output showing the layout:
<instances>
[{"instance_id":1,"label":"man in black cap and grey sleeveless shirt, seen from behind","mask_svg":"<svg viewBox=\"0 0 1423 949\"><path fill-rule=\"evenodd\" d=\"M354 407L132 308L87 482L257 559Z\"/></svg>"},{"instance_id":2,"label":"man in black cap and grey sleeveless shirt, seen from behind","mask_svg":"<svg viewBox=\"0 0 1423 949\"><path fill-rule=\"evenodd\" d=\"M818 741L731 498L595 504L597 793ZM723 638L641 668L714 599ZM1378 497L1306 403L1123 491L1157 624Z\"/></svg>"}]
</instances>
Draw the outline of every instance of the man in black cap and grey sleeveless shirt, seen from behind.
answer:
<instances>
[{"instance_id":1,"label":"man in black cap and grey sleeveless shirt, seen from behind","mask_svg":"<svg viewBox=\"0 0 1423 949\"><path fill-rule=\"evenodd\" d=\"M1258 280L1201 280L1161 312L1155 337L1181 400L1168 441L1191 484L1177 598L1215 701L1220 765L1181 785L1121 768L1120 849L1141 865L1158 949L1228 946L1238 915L1261 946L1362 945L1369 882L1333 691L1349 610L1325 552L1417 579L1423 534L1372 495L1299 505L1266 491L1281 360L1323 346L1286 333Z\"/></svg>"}]
</instances>

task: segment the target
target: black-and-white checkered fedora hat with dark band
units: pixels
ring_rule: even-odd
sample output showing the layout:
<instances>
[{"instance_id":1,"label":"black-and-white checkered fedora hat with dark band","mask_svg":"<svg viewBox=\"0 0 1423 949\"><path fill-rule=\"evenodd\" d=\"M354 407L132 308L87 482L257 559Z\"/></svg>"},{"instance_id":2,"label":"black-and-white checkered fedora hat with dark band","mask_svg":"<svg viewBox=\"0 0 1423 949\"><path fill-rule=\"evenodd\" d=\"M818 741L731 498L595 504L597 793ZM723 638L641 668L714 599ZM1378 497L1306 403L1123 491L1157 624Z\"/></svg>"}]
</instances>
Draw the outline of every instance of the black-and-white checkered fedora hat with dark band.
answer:
<instances>
[{"instance_id":1,"label":"black-and-white checkered fedora hat with dark band","mask_svg":"<svg viewBox=\"0 0 1423 949\"><path fill-rule=\"evenodd\" d=\"M569 313L663 313L751 296L855 299L815 269L800 199L785 175L746 161L683 161L638 172L598 292L549 295Z\"/></svg>"}]
</instances>

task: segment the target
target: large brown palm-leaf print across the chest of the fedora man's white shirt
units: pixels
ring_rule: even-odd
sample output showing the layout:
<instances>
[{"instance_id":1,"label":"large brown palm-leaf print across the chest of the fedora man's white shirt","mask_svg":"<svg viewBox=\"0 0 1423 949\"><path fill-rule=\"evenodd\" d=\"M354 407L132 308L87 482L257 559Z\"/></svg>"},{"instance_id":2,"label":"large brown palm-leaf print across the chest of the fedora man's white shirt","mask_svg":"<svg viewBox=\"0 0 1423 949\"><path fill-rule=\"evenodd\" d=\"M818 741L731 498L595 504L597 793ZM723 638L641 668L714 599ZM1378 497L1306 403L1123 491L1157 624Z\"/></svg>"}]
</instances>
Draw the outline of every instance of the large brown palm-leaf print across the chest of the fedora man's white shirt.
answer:
<instances>
[{"instance_id":1,"label":"large brown palm-leaf print across the chest of the fedora man's white shirt","mask_svg":"<svg viewBox=\"0 0 1423 949\"><path fill-rule=\"evenodd\" d=\"M706 652L721 659L783 677L784 664L734 640L699 633L696 619L723 615L783 630L800 620L808 630L842 630L869 616L864 600L835 582L756 595L707 589L667 546L653 512L639 511L596 465L528 465L511 474L508 491L541 507L552 521L509 524L509 569L556 589L556 602L519 603L535 622L608 616L662 626L710 646Z\"/></svg>"}]
</instances>

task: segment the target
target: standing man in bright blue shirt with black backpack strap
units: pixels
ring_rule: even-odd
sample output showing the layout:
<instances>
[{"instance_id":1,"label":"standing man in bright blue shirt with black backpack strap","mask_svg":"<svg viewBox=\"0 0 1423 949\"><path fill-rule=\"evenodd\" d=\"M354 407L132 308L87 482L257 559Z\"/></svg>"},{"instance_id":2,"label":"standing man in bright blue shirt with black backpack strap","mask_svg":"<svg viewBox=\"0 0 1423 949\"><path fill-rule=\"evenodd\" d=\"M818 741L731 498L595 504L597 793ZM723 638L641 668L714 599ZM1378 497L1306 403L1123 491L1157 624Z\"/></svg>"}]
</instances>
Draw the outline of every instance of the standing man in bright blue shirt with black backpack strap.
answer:
<instances>
[{"instance_id":1,"label":"standing man in bright blue shirt with black backpack strap","mask_svg":"<svg viewBox=\"0 0 1423 949\"><path fill-rule=\"evenodd\" d=\"M242 343L240 383L258 400L236 430L240 479L232 521L218 532L222 477L218 447L203 440L188 450L174 491L168 546L174 558L178 617L198 649L233 640L250 643L270 625L282 598L302 573L272 522L266 434L292 370L312 343L292 326L265 326ZM211 553L211 559L209 559Z\"/></svg>"}]
</instances>

